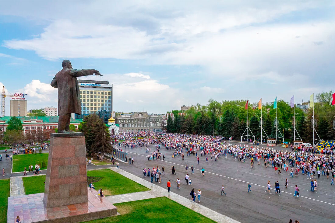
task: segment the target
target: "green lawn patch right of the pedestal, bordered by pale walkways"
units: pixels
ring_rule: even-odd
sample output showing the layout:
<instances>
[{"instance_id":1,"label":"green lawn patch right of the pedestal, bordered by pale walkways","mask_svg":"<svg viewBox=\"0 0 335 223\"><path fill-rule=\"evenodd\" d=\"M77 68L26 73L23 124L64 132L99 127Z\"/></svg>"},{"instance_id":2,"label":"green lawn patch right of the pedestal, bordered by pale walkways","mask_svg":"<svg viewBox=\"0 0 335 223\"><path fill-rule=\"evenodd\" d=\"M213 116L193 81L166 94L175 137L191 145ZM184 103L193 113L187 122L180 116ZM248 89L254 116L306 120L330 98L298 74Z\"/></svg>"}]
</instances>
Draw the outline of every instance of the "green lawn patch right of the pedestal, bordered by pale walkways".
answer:
<instances>
[{"instance_id":1,"label":"green lawn patch right of the pedestal, bordered by pale walkways","mask_svg":"<svg viewBox=\"0 0 335 223\"><path fill-rule=\"evenodd\" d=\"M106 196L150 190L110 169L87 171L88 183L90 183L92 177L98 177L97 182L93 180L95 190L102 188Z\"/></svg>"}]
</instances>

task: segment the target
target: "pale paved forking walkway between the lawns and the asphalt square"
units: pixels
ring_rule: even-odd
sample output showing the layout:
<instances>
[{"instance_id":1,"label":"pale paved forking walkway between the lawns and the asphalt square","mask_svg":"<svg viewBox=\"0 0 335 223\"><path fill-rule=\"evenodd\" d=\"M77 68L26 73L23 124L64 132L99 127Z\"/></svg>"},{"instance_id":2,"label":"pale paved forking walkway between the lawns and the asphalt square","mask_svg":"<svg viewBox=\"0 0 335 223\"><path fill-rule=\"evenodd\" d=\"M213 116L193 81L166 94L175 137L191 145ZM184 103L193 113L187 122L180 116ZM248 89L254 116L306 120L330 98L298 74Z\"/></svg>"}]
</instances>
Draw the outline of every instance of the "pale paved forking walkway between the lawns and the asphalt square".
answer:
<instances>
[{"instance_id":1,"label":"pale paved forking walkway between the lawns and the asphalt square","mask_svg":"<svg viewBox=\"0 0 335 223\"><path fill-rule=\"evenodd\" d=\"M145 179L142 179L141 177L135 176L131 173L128 173L122 169L116 169L116 167L109 168L115 172L120 173L121 175L139 183L142 184L144 187L147 187L151 189L151 191L146 192L137 192L137 193L130 193L130 194L123 194L123 195L115 195L115 196L109 196L106 197L112 204L120 203L120 202L128 202L128 201L136 201L136 200L143 200L148 198L155 198L155 197L167 197L171 200L195 211L199 214L202 214L203 216L206 216L207 218L212 219L216 222L224 222L224 223L239 223L239 221L236 221L232 218L229 218L228 216L222 215L216 211L213 211L197 202L191 202L190 199L184 198L183 196L180 196L176 193L167 192L167 189L164 189L156 184L153 184L151 182L146 181Z\"/></svg>"}]
</instances>

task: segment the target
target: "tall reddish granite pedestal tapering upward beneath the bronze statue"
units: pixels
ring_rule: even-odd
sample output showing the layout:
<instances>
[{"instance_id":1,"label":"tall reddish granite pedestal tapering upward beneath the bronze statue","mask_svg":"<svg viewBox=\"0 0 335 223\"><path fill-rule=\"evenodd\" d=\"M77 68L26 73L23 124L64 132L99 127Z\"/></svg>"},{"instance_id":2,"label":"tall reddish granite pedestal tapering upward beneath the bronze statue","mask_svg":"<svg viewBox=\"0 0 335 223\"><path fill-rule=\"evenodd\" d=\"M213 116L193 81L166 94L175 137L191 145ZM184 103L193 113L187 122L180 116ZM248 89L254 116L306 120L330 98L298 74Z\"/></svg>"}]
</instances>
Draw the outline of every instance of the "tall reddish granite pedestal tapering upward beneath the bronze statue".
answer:
<instances>
[{"instance_id":1,"label":"tall reddish granite pedestal tapering upward beneath the bronze statue","mask_svg":"<svg viewBox=\"0 0 335 223\"><path fill-rule=\"evenodd\" d=\"M43 203L46 208L87 202L83 133L51 133Z\"/></svg>"}]
</instances>

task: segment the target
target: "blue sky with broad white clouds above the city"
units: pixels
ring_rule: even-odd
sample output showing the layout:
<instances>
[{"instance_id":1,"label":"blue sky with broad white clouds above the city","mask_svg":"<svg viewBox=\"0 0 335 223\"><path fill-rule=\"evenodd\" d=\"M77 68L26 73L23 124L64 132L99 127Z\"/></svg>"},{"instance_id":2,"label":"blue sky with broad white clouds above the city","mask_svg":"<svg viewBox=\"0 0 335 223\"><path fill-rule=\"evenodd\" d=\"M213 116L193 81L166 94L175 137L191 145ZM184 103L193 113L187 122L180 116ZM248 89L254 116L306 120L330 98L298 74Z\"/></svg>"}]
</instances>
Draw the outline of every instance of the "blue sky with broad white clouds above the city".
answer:
<instances>
[{"instance_id":1,"label":"blue sky with broad white clouds above the city","mask_svg":"<svg viewBox=\"0 0 335 223\"><path fill-rule=\"evenodd\" d=\"M333 89L334 12L333 1L1 1L0 87L28 93L28 109L57 106L50 82L69 59L113 84L116 111L307 101Z\"/></svg>"}]
</instances>

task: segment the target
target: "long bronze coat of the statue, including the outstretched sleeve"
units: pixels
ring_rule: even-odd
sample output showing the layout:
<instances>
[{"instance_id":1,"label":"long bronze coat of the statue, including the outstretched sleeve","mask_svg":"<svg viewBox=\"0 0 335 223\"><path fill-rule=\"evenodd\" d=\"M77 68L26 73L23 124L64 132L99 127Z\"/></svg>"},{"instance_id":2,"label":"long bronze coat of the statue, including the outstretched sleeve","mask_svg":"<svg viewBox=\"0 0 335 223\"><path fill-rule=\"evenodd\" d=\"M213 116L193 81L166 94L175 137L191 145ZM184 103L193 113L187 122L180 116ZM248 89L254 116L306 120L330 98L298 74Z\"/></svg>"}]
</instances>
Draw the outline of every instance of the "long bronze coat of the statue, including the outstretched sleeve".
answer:
<instances>
[{"instance_id":1,"label":"long bronze coat of the statue, including the outstretched sleeve","mask_svg":"<svg viewBox=\"0 0 335 223\"><path fill-rule=\"evenodd\" d=\"M93 75L93 69L73 70L63 68L51 81L58 88L58 115L75 113L81 115L79 85L77 77Z\"/></svg>"}]
</instances>

